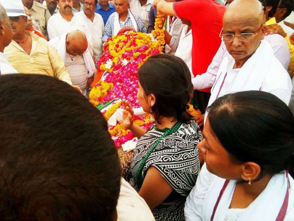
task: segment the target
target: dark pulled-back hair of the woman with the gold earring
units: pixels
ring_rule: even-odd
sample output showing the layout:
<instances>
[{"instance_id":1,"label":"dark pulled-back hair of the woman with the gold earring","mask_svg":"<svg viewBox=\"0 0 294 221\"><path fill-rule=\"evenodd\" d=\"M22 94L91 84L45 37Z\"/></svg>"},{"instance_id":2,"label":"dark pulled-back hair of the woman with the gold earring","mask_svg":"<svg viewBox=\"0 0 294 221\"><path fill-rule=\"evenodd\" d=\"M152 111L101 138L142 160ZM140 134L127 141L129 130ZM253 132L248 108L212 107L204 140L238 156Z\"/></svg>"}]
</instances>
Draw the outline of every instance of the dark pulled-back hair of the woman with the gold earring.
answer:
<instances>
[{"instance_id":1,"label":"dark pulled-back hair of the woman with the gold earring","mask_svg":"<svg viewBox=\"0 0 294 221\"><path fill-rule=\"evenodd\" d=\"M292 168L294 116L275 95L262 91L228 94L208 111L213 133L237 162L257 163L261 176Z\"/></svg>"}]
</instances>

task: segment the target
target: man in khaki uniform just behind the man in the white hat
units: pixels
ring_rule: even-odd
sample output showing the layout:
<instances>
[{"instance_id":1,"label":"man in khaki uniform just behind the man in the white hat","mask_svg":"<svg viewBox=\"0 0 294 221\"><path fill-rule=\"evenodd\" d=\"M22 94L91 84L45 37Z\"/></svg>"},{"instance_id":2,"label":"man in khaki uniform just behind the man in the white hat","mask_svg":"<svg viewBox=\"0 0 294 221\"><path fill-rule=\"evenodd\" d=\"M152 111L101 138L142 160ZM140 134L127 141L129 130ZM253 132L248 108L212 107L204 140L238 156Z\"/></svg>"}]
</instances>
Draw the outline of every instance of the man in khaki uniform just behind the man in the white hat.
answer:
<instances>
[{"instance_id":1,"label":"man in khaki uniform just behind the man in the white hat","mask_svg":"<svg viewBox=\"0 0 294 221\"><path fill-rule=\"evenodd\" d=\"M51 15L46 11L46 6L34 0L22 0L22 3L29 9L31 18L40 26L42 34L48 38L47 22Z\"/></svg>"}]
</instances>

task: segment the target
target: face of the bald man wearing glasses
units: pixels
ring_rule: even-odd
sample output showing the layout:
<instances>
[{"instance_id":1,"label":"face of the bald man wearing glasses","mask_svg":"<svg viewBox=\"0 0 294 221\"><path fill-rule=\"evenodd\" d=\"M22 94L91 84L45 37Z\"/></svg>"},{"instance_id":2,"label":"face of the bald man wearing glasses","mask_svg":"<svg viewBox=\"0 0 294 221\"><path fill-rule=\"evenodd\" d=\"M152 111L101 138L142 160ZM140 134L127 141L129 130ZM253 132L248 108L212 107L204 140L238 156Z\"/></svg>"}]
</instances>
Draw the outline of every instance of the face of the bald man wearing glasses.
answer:
<instances>
[{"instance_id":1,"label":"face of the bald man wearing glasses","mask_svg":"<svg viewBox=\"0 0 294 221\"><path fill-rule=\"evenodd\" d=\"M233 18L224 17L222 34L257 33L252 41L241 41L236 36L232 42L225 42L229 54L235 60L248 59L258 48L260 40L264 38L264 32L265 25L257 19L248 19L242 15L237 15Z\"/></svg>"}]
</instances>

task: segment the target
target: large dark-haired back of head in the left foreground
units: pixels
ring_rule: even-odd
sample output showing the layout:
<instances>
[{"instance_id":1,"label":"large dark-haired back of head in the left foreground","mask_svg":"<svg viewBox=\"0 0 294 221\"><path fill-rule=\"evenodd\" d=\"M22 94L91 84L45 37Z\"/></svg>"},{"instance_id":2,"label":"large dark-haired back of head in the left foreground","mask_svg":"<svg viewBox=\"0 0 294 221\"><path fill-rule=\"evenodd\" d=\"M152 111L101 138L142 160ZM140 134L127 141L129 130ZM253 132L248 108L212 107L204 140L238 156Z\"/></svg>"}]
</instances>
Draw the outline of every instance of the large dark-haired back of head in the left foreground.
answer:
<instances>
[{"instance_id":1,"label":"large dark-haired back of head in the left foreground","mask_svg":"<svg viewBox=\"0 0 294 221\"><path fill-rule=\"evenodd\" d=\"M1 220L113 220L121 172L107 129L63 81L0 75Z\"/></svg>"}]
</instances>

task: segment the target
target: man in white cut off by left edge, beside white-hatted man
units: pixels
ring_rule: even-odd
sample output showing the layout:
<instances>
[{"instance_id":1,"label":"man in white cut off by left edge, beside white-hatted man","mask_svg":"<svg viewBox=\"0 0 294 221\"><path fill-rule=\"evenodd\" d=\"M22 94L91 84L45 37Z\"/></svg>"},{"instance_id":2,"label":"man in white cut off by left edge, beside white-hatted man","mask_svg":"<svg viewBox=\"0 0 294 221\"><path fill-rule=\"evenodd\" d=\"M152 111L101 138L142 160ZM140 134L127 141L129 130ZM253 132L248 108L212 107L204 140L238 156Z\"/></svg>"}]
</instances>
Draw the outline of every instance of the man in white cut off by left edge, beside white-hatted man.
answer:
<instances>
[{"instance_id":1,"label":"man in white cut off by left edge, beside white-hatted man","mask_svg":"<svg viewBox=\"0 0 294 221\"><path fill-rule=\"evenodd\" d=\"M10 20L5 9L0 4L0 75L17 73L17 71L8 62L7 56L3 53L4 48L10 44L11 40L12 30Z\"/></svg>"}]
</instances>

